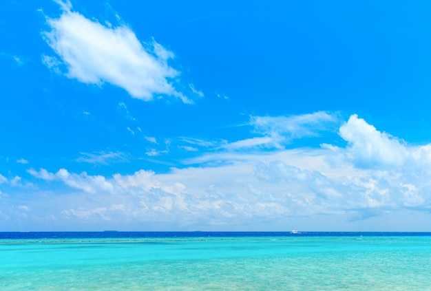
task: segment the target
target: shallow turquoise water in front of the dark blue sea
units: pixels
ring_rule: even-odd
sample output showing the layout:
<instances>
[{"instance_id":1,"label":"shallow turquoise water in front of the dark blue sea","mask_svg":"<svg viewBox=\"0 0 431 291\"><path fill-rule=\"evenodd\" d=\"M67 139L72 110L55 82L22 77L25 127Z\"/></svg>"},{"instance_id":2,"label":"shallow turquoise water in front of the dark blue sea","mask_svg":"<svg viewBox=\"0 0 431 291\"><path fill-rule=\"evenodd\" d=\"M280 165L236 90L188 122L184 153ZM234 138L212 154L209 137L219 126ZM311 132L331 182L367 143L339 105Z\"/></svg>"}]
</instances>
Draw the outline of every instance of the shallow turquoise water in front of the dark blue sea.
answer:
<instances>
[{"instance_id":1,"label":"shallow turquoise water in front of the dark blue sea","mask_svg":"<svg viewBox=\"0 0 431 291\"><path fill-rule=\"evenodd\" d=\"M431 237L3 239L1 290L431 290Z\"/></svg>"}]
</instances>

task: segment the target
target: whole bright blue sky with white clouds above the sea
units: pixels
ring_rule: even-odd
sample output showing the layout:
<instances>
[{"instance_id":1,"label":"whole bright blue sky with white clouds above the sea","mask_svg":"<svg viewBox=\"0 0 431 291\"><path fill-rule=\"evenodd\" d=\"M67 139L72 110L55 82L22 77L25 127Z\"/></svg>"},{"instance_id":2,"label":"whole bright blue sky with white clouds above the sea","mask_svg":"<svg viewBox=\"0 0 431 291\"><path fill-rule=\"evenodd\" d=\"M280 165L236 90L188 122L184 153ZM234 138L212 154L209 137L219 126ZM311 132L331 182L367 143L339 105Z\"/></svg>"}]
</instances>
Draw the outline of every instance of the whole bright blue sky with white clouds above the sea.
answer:
<instances>
[{"instance_id":1,"label":"whole bright blue sky with white clouds above the sea","mask_svg":"<svg viewBox=\"0 0 431 291\"><path fill-rule=\"evenodd\" d=\"M0 3L0 231L431 231L429 1Z\"/></svg>"}]
</instances>

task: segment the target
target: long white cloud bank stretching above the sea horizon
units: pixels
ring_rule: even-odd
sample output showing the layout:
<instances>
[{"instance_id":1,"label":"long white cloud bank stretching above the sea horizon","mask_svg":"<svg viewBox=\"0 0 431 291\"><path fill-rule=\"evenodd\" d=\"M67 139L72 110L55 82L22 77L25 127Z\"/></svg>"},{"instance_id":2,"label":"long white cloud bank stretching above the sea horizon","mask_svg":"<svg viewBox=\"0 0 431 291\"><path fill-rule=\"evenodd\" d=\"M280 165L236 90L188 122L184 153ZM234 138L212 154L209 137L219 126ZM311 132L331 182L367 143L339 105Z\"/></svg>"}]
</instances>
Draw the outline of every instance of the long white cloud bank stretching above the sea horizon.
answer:
<instances>
[{"instance_id":1,"label":"long white cloud bank stretching above the sea horizon","mask_svg":"<svg viewBox=\"0 0 431 291\"><path fill-rule=\"evenodd\" d=\"M310 116L292 120L304 125ZM323 122L332 120L326 127L330 131L339 122L329 114L319 116L324 116ZM278 122L266 124L265 131L286 131L288 136L297 128L293 122L284 128ZM322 122L314 128L324 131ZM315 129L308 126L302 136ZM50 219L94 225L165 222L180 229L224 228L304 215L338 215L355 222L398 211L431 211L431 144L410 146L356 115L339 127L339 136L346 147L207 151L193 166L184 164L169 173L143 169L111 177L67 169L28 173L43 181L41 189L63 188L63 194L52 193L46 201ZM10 184L0 177L3 184ZM65 197L75 198L59 203ZM31 209L25 211L30 217L36 207L25 206ZM20 211L14 208L13 213Z\"/></svg>"}]
</instances>

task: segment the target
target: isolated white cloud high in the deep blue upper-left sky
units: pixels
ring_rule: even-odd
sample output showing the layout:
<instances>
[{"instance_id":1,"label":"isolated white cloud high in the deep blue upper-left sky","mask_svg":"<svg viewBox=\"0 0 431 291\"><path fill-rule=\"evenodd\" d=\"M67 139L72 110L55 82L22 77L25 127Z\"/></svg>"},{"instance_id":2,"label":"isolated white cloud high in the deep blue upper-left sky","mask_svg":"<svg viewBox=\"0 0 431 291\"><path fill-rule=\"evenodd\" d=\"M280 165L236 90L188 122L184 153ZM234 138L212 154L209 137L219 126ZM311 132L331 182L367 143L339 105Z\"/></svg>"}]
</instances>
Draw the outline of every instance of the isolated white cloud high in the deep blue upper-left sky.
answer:
<instances>
[{"instance_id":1,"label":"isolated white cloud high in the deep blue upper-left sky","mask_svg":"<svg viewBox=\"0 0 431 291\"><path fill-rule=\"evenodd\" d=\"M132 97L153 100L155 96L174 96L184 103L192 100L174 87L180 72L168 64L174 54L156 41L143 43L126 25L111 27L72 11L70 1L56 1L63 13L59 19L47 18L50 31L43 38L56 56L42 57L45 65L65 76L87 84L111 83ZM202 92L191 87L191 94Z\"/></svg>"}]
</instances>

